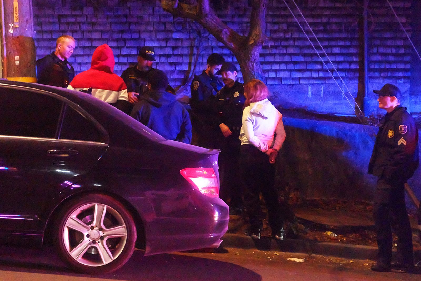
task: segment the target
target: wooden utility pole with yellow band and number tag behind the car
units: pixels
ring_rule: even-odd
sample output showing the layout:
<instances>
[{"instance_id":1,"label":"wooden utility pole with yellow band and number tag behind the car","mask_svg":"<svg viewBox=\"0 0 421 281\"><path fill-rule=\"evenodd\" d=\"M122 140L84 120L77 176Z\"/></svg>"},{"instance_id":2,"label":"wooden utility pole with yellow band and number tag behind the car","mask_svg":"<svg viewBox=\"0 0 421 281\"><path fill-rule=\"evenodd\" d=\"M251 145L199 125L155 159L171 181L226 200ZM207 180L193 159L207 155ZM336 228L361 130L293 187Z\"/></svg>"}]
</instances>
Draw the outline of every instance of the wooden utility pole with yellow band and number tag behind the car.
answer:
<instances>
[{"instance_id":1,"label":"wooden utility pole with yellow band and number tag behind the car","mask_svg":"<svg viewBox=\"0 0 421 281\"><path fill-rule=\"evenodd\" d=\"M3 78L36 82L32 0L3 0Z\"/></svg>"}]
</instances>

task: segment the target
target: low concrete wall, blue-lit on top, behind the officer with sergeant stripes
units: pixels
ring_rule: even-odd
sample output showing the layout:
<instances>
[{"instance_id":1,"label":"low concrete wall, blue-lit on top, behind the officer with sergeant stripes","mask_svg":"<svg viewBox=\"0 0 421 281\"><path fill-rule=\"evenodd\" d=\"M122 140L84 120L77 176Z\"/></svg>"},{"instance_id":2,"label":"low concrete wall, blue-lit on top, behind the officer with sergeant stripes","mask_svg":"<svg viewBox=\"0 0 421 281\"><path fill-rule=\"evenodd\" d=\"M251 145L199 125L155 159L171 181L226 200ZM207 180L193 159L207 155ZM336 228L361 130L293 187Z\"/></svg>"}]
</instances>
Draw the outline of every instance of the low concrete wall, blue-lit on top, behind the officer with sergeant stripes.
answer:
<instances>
[{"instance_id":1,"label":"low concrete wall, blue-lit on top, behind the officer with sergeant stripes","mask_svg":"<svg viewBox=\"0 0 421 281\"><path fill-rule=\"evenodd\" d=\"M304 197L373 199L377 178L367 170L377 128L291 117L284 125L287 138L277 161L282 184ZM408 180L418 198L420 180L418 168ZM406 206L414 208L408 196Z\"/></svg>"}]
</instances>

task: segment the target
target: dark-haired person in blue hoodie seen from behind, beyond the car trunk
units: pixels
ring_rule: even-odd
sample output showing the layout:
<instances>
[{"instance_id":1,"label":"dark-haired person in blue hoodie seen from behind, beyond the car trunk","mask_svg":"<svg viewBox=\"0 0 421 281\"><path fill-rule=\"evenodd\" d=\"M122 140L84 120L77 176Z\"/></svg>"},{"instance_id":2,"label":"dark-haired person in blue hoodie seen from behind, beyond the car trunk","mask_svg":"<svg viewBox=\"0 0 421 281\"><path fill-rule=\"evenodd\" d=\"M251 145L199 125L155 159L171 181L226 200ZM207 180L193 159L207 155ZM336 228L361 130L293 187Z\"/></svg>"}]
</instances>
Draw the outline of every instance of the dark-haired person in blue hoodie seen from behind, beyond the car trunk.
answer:
<instances>
[{"instance_id":1,"label":"dark-haired person in blue hoodie seen from behind, beyond the car trunk","mask_svg":"<svg viewBox=\"0 0 421 281\"><path fill-rule=\"evenodd\" d=\"M165 91L167 75L162 70L153 69L148 72L147 80L149 91L134 105L131 117L166 139L189 144L192 140L189 112L174 94Z\"/></svg>"}]
</instances>

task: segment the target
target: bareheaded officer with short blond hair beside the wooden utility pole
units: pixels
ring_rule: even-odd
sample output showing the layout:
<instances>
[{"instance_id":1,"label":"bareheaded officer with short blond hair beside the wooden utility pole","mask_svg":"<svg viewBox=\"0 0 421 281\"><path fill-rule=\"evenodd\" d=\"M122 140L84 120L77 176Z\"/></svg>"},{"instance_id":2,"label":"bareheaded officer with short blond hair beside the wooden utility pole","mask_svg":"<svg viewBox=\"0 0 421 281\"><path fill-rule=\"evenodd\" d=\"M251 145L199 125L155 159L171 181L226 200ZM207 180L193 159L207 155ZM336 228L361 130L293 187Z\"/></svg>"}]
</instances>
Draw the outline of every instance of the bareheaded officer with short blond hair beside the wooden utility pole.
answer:
<instances>
[{"instance_id":1,"label":"bareheaded officer with short blond hair beside the wooden utility pole","mask_svg":"<svg viewBox=\"0 0 421 281\"><path fill-rule=\"evenodd\" d=\"M56 51L37 60L37 83L67 88L75 78L75 69L67 61L75 47L76 41L72 36L57 38Z\"/></svg>"}]
</instances>

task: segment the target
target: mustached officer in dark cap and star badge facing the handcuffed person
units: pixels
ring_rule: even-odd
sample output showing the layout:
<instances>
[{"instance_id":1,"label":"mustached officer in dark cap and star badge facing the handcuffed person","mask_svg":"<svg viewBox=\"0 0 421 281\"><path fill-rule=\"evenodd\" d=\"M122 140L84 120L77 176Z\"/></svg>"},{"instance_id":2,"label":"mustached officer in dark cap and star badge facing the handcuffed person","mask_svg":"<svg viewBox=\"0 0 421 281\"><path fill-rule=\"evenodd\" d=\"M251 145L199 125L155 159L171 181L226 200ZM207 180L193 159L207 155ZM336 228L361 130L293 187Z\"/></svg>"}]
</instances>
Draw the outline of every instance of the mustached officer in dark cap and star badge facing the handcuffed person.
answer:
<instances>
[{"instance_id":1,"label":"mustached officer in dark cap and star badge facing the handcuffed person","mask_svg":"<svg viewBox=\"0 0 421 281\"><path fill-rule=\"evenodd\" d=\"M242 210L242 184L240 183L240 129L244 107L244 84L237 82L237 68L231 62L224 62L217 74L222 75L225 86L216 94L216 125L221 174L221 199L231 198L230 213Z\"/></svg>"}]
</instances>

